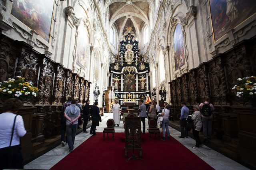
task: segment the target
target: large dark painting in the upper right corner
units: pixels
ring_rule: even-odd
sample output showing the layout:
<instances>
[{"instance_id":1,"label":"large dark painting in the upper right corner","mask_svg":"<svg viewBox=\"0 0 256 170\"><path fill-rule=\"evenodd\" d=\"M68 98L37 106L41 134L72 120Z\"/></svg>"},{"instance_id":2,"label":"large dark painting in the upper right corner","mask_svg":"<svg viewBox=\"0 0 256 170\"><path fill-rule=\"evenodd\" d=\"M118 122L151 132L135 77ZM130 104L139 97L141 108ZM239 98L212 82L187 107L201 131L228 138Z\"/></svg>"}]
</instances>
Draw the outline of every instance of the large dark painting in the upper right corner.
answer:
<instances>
[{"instance_id":1,"label":"large dark painting in the upper right corner","mask_svg":"<svg viewBox=\"0 0 256 170\"><path fill-rule=\"evenodd\" d=\"M210 0L214 41L255 14L255 0Z\"/></svg>"}]
</instances>

